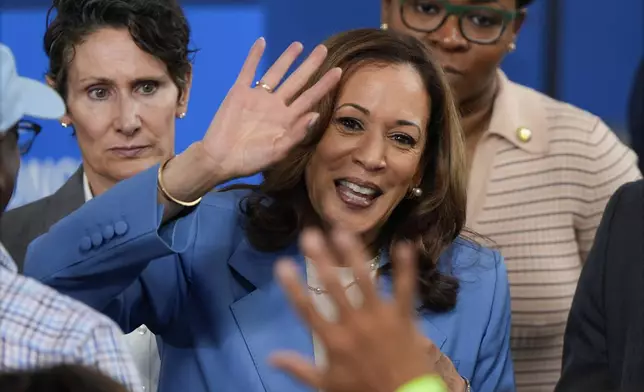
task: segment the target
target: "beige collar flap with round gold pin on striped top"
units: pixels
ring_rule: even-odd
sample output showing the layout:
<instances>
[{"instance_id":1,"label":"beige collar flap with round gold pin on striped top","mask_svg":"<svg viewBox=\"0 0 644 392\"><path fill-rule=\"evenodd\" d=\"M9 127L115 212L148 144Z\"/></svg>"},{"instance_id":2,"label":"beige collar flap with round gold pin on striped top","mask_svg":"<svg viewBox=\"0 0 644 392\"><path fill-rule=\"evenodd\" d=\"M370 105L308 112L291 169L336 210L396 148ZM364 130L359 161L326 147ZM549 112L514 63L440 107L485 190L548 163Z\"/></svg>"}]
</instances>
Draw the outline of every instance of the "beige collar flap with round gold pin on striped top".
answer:
<instances>
[{"instance_id":1,"label":"beige collar flap with round gold pin on striped top","mask_svg":"<svg viewBox=\"0 0 644 392\"><path fill-rule=\"evenodd\" d=\"M494 100L489 133L532 153L548 152L547 114L541 94L511 82L498 71L499 91ZM527 137L526 137L527 136Z\"/></svg>"}]
</instances>

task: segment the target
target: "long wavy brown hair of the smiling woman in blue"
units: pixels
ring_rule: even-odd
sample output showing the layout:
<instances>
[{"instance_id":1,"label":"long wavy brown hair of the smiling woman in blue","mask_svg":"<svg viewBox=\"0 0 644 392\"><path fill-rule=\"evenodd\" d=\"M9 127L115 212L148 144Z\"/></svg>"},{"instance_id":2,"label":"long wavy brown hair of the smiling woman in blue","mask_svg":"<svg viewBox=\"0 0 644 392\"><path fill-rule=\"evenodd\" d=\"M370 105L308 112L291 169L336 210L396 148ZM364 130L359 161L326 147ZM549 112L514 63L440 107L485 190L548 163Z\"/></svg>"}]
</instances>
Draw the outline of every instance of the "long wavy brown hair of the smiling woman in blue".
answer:
<instances>
[{"instance_id":1,"label":"long wavy brown hair of the smiling woman in blue","mask_svg":"<svg viewBox=\"0 0 644 392\"><path fill-rule=\"evenodd\" d=\"M277 251L297 240L304 225L311 222L310 214L314 214L306 190L305 168L331 121L342 86L363 67L410 65L422 77L431 97L428 137L420 163L424 168L420 184L423 195L406 198L395 207L374 245L390 249L401 240L418 244L423 306L433 311L450 310L456 304L458 281L442 274L437 264L440 254L465 224L466 174L463 137L449 84L426 47L407 35L360 29L338 34L325 45L328 56L324 64L300 94L332 68L342 68L342 79L313 108L320 117L305 140L263 173L261 185L246 186L253 189L241 201L247 237L261 251ZM389 273L390 268L391 265L380 272Z\"/></svg>"}]
</instances>

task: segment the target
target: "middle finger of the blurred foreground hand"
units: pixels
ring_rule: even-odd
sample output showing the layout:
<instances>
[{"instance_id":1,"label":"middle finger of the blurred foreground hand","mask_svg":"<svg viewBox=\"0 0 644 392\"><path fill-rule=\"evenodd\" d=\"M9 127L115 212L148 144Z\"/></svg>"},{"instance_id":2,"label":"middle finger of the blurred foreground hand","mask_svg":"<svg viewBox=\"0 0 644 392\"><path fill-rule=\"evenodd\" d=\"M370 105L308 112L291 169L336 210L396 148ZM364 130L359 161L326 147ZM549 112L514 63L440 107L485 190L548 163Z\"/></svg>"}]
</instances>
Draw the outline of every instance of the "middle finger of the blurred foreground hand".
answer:
<instances>
[{"instance_id":1,"label":"middle finger of the blurred foreground hand","mask_svg":"<svg viewBox=\"0 0 644 392\"><path fill-rule=\"evenodd\" d=\"M318 278L324 286L327 295L336 303L340 317L346 316L352 310L345 294L345 287L338 280L333 265L340 265L341 261L331 251L332 244L326 241L322 232L307 229L300 236L300 246L304 254L315 266Z\"/></svg>"}]
</instances>

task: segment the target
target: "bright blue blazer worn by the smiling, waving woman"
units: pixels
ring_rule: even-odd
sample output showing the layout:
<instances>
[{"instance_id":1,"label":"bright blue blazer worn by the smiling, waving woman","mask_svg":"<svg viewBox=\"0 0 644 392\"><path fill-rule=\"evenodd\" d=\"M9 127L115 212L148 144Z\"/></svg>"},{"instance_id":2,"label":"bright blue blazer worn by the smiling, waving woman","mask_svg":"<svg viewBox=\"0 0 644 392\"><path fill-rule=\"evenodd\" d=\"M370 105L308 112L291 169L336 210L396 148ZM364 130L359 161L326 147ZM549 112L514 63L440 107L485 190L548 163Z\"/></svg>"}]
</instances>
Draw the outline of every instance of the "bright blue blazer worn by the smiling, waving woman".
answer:
<instances>
[{"instance_id":1,"label":"bright blue blazer worn by the smiling, waving woman","mask_svg":"<svg viewBox=\"0 0 644 392\"><path fill-rule=\"evenodd\" d=\"M280 256L293 257L304 275L297 246L253 249L236 191L208 194L190 214L161 226L157 168L121 182L36 239L25 274L107 314L126 332L147 325L161 339L161 392L310 391L267 362L284 349L313 357L311 333L273 277ZM420 330L474 391L513 391L500 255L457 240L441 267L461 282L458 303L446 313L419 312ZM391 294L388 277L379 285Z\"/></svg>"}]
</instances>

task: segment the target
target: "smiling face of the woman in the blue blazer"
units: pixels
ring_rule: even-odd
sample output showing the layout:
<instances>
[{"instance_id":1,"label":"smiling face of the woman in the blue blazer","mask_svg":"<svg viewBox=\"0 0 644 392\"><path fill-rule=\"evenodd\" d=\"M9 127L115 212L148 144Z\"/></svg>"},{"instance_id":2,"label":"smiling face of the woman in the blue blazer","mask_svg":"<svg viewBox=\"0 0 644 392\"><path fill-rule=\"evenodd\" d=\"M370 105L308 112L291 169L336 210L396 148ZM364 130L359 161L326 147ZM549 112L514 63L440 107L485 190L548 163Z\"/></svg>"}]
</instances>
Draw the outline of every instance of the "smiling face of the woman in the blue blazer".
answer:
<instances>
[{"instance_id":1,"label":"smiling face of the woman in the blue blazer","mask_svg":"<svg viewBox=\"0 0 644 392\"><path fill-rule=\"evenodd\" d=\"M429 108L410 65L365 66L346 80L305 171L324 224L375 239L421 181Z\"/></svg>"}]
</instances>

